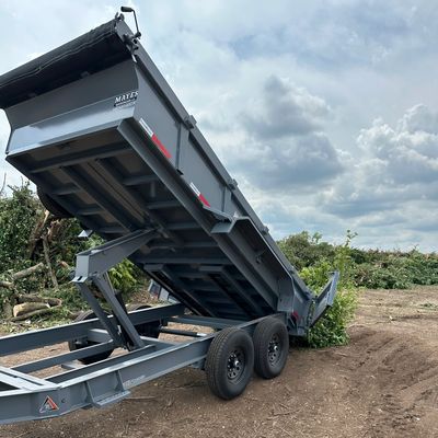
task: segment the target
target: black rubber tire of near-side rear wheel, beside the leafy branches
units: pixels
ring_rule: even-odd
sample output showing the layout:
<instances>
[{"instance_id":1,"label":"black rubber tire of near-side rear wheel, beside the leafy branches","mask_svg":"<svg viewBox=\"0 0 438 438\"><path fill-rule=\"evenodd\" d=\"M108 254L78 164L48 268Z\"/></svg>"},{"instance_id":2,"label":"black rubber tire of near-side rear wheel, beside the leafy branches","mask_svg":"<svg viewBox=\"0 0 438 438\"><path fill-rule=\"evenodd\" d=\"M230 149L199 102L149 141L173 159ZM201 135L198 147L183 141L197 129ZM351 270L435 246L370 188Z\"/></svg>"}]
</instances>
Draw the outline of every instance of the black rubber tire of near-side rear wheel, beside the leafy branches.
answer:
<instances>
[{"instance_id":1,"label":"black rubber tire of near-side rear wheel, beside the leafy branches","mask_svg":"<svg viewBox=\"0 0 438 438\"><path fill-rule=\"evenodd\" d=\"M280 357L276 364L270 364L268 348L274 335L278 335L280 342ZM265 318L254 330L253 343L256 374L263 379L273 379L279 376L289 355L289 334L286 325L276 318Z\"/></svg>"}]
</instances>

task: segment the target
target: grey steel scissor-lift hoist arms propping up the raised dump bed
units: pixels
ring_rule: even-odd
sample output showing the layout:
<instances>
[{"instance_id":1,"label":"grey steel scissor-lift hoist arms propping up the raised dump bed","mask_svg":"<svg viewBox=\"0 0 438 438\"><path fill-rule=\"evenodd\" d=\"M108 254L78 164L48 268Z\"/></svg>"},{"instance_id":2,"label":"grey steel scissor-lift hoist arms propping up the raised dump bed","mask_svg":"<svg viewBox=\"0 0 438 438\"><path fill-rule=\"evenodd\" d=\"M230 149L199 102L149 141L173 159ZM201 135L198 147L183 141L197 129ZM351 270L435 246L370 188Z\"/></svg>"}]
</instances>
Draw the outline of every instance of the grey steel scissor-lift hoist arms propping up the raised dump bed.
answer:
<instances>
[{"instance_id":1,"label":"grey steel scissor-lift hoist arms propping up the raised dump bed","mask_svg":"<svg viewBox=\"0 0 438 438\"><path fill-rule=\"evenodd\" d=\"M114 343L128 349L141 348L145 343L129 320L126 309L117 299L107 272L157 237L159 233L155 230L137 230L92 250L83 251L77 256L76 276L72 281ZM90 281L102 292L115 318L110 319L104 312L88 286Z\"/></svg>"}]
</instances>

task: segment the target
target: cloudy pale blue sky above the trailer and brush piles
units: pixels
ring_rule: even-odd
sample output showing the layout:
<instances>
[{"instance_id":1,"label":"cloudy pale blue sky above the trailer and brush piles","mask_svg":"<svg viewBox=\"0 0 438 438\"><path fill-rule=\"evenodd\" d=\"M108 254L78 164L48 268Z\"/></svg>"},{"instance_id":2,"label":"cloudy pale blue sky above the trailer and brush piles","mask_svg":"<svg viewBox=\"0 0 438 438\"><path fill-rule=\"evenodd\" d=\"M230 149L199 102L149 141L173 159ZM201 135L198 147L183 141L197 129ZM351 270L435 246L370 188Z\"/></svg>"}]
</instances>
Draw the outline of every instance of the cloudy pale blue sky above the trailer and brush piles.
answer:
<instances>
[{"instance_id":1,"label":"cloudy pale blue sky above the trailer and brush piles","mask_svg":"<svg viewBox=\"0 0 438 438\"><path fill-rule=\"evenodd\" d=\"M148 0L146 47L276 238L438 251L436 0ZM113 0L0 1L0 73ZM128 23L134 26L131 16ZM0 149L9 124L1 112ZM21 176L0 154L0 175Z\"/></svg>"}]
</instances>

